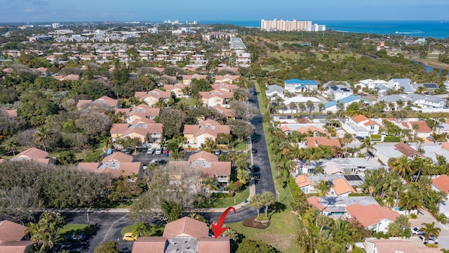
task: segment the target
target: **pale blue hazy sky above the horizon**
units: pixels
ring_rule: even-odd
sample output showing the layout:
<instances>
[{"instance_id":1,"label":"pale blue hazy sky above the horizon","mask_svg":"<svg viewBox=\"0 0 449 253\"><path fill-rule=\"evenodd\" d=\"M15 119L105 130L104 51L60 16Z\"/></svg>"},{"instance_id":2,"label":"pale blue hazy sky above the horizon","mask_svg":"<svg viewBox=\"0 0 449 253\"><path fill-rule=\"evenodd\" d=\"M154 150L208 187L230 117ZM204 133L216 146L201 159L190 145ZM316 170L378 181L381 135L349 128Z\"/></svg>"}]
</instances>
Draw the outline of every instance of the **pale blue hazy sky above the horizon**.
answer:
<instances>
[{"instance_id":1,"label":"pale blue hazy sky above the horizon","mask_svg":"<svg viewBox=\"0 0 449 253\"><path fill-rule=\"evenodd\" d=\"M448 20L447 0L0 0L0 22Z\"/></svg>"}]
</instances>

